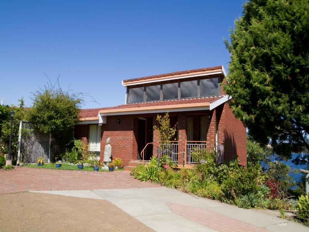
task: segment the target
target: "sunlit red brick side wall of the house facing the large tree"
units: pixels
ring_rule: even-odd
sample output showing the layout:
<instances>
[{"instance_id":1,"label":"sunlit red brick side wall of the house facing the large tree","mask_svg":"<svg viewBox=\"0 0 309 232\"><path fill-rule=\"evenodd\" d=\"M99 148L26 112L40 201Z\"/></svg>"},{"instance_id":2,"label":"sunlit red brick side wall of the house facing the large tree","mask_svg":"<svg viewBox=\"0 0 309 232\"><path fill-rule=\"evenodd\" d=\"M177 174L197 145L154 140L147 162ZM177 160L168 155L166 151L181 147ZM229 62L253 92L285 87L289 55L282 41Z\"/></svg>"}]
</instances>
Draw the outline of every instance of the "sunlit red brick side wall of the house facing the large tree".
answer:
<instances>
[{"instance_id":1,"label":"sunlit red brick side wall of the house facing the large tree","mask_svg":"<svg viewBox=\"0 0 309 232\"><path fill-rule=\"evenodd\" d=\"M247 165L247 133L243 123L236 119L229 105L221 106L222 116L219 122L219 141L225 145L225 160L238 156L240 164ZM218 109L218 107L217 107ZM220 139L220 137L222 139Z\"/></svg>"}]
</instances>

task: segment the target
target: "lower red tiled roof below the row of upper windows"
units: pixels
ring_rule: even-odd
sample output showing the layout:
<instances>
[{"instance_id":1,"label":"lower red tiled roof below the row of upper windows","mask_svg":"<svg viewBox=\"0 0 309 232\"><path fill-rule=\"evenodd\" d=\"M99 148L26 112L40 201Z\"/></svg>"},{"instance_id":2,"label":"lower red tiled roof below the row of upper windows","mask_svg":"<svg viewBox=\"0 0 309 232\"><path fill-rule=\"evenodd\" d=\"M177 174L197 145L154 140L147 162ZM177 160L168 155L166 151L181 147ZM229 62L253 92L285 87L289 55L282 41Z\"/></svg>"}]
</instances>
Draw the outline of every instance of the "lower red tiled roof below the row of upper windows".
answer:
<instances>
[{"instance_id":1,"label":"lower red tiled roof below the row of upper windows","mask_svg":"<svg viewBox=\"0 0 309 232\"><path fill-rule=\"evenodd\" d=\"M124 104L112 107L104 107L104 108L94 108L94 109L83 109L81 110L80 116L82 118L89 118L89 117L97 117L100 110L117 110L117 109L136 109L136 108L143 108L143 107L159 107L159 106L168 106L168 105L183 105L183 104L195 104L195 103L213 103L224 97L222 96L215 96L215 97L196 97L196 98L184 98L184 99L175 99L175 100L165 100L165 101L150 101L150 102L140 102L140 103L131 103L131 104Z\"/></svg>"}]
</instances>

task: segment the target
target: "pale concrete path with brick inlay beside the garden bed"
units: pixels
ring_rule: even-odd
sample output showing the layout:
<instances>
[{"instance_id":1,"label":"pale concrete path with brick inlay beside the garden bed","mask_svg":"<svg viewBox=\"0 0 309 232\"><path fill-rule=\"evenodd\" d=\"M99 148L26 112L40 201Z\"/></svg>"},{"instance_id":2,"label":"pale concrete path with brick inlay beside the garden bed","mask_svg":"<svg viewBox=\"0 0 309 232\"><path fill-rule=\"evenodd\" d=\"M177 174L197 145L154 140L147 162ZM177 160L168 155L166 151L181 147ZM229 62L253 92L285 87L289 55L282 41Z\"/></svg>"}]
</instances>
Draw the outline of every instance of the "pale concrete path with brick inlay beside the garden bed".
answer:
<instances>
[{"instance_id":1,"label":"pale concrete path with brick inlay beside the garden bed","mask_svg":"<svg viewBox=\"0 0 309 232\"><path fill-rule=\"evenodd\" d=\"M108 200L158 232L309 231L295 222L166 187L39 192Z\"/></svg>"}]
</instances>

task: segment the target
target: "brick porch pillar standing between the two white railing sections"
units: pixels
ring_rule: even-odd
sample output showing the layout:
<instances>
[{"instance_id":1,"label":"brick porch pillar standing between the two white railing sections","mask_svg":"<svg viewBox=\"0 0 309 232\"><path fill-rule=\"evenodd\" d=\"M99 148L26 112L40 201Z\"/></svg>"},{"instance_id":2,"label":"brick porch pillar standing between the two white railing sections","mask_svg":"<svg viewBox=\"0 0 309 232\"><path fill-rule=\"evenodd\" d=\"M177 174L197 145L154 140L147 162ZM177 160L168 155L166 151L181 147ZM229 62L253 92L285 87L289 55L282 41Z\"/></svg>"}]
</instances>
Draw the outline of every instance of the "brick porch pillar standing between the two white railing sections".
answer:
<instances>
[{"instance_id":1,"label":"brick porch pillar standing between the two white railing sections","mask_svg":"<svg viewBox=\"0 0 309 232\"><path fill-rule=\"evenodd\" d=\"M187 133L186 133L186 115L180 114L178 117L178 165L183 163L183 151L186 149ZM185 161L186 162L186 157Z\"/></svg>"}]
</instances>

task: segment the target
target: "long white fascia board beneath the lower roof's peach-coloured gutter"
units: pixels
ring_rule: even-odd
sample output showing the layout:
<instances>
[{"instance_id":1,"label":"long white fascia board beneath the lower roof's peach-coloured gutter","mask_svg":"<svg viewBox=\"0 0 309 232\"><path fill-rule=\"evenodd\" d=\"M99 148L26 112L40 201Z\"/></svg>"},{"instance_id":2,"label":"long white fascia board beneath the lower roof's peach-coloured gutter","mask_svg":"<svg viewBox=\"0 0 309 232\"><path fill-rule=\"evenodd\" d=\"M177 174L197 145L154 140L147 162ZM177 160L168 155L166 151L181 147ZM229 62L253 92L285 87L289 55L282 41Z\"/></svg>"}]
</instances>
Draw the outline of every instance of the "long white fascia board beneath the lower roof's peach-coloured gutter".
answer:
<instances>
[{"instance_id":1,"label":"long white fascia board beneath the lower roof's peach-coloured gutter","mask_svg":"<svg viewBox=\"0 0 309 232\"><path fill-rule=\"evenodd\" d=\"M209 106L200 107L186 107L186 108L176 108L176 109L158 109L158 110L137 110L129 112L115 112L115 113L101 113L102 117L112 116L112 115L128 115L128 114L152 114L152 113L166 113L168 112L182 112L182 111L196 111L196 110L209 110ZM105 122L106 123L106 122Z\"/></svg>"}]
</instances>

